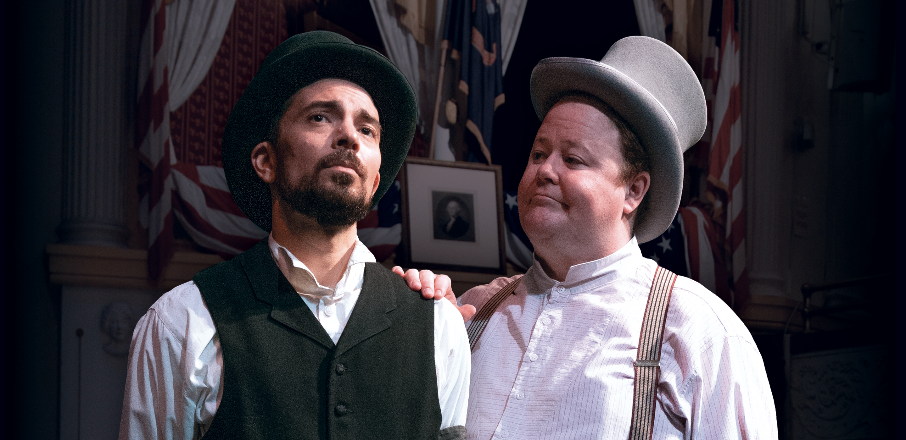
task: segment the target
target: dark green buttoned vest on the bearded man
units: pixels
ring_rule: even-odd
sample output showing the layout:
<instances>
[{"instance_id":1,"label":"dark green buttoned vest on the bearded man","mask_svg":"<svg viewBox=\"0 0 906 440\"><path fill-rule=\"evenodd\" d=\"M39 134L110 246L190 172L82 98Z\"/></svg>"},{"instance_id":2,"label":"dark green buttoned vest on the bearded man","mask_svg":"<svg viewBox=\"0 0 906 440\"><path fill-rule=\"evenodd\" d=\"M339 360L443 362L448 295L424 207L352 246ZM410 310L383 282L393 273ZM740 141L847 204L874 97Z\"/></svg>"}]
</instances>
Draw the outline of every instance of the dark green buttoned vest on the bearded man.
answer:
<instances>
[{"instance_id":1,"label":"dark green buttoned vest on the bearded man","mask_svg":"<svg viewBox=\"0 0 906 440\"><path fill-rule=\"evenodd\" d=\"M223 352L207 439L437 439L433 301L365 264L334 346L267 240L195 275Z\"/></svg>"}]
</instances>

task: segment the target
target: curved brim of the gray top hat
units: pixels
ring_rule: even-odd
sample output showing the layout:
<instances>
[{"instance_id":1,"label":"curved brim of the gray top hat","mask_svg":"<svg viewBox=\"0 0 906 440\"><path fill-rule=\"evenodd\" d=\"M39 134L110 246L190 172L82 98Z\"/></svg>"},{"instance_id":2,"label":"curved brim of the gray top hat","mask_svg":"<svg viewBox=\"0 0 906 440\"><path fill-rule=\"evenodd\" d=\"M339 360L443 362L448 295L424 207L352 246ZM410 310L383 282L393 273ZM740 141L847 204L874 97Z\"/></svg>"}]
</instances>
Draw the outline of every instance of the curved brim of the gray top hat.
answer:
<instances>
[{"instance_id":1,"label":"curved brim of the gray top hat","mask_svg":"<svg viewBox=\"0 0 906 440\"><path fill-rule=\"evenodd\" d=\"M583 91L604 101L635 133L651 158L649 209L636 218L633 234L639 243L657 238L670 226L682 194L683 148L676 123L660 101L613 67L583 58L547 58L538 62L530 82L538 119L565 93Z\"/></svg>"}]
</instances>

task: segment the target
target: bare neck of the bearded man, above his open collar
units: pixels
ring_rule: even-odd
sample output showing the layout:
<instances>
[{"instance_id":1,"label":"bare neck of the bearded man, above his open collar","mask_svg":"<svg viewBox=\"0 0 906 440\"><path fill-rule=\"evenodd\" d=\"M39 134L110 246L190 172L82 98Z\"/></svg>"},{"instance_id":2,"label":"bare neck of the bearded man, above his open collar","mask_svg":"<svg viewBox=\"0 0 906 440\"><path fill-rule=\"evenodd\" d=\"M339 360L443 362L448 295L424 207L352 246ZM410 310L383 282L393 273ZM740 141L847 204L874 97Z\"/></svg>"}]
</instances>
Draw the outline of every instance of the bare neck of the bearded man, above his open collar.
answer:
<instances>
[{"instance_id":1,"label":"bare neck of the bearded man, above his open collar","mask_svg":"<svg viewBox=\"0 0 906 440\"><path fill-rule=\"evenodd\" d=\"M274 241L304 263L319 284L333 288L340 282L355 249L355 224L324 227L298 213L286 221L276 206L272 223Z\"/></svg>"}]
</instances>

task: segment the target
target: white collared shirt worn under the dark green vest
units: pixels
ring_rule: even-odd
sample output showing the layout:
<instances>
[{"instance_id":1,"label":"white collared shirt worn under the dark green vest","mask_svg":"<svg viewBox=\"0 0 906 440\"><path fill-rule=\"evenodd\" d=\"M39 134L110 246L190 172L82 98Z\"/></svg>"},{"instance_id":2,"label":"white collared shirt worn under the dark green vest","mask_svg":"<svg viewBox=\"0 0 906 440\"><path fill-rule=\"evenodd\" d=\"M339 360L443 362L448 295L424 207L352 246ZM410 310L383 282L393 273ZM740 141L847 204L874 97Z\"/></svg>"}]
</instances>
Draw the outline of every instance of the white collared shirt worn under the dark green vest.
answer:
<instances>
[{"instance_id":1,"label":"white collared shirt worn under the dark green vest","mask_svg":"<svg viewBox=\"0 0 906 440\"><path fill-rule=\"evenodd\" d=\"M373 263L374 255L356 239L346 272L332 289L273 238L269 244L280 271L336 343L359 299L365 263ZM462 315L449 301L434 301L441 429L466 424L468 353ZM223 366L217 329L195 282L165 293L132 333L120 440L199 438L223 396Z\"/></svg>"}]
</instances>

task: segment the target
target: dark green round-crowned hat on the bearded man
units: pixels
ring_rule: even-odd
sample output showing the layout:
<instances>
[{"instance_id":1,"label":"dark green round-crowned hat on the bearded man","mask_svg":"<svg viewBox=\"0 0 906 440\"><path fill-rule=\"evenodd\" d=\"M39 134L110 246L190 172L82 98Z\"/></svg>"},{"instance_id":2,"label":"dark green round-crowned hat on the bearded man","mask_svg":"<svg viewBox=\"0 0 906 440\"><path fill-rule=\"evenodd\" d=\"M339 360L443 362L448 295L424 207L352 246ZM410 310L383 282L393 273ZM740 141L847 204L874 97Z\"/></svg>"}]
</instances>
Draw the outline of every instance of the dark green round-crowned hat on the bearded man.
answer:
<instances>
[{"instance_id":1,"label":"dark green round-crowned hat on the bearded man","mask_svg":"<svg viewBox=\"0 0 906 440\"><path fill-rule=\"evenodd\" d=\"M419 110L409 81L373 49L327 31L299 33L267 55L226 120L223 163L236 205L255 225L271 230L271 190L255 174L252 148L296 91L325 78L352 81L371 95L381 120L381 200L409 152Z\"/></svg>"}]
</instances>

